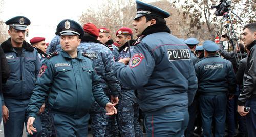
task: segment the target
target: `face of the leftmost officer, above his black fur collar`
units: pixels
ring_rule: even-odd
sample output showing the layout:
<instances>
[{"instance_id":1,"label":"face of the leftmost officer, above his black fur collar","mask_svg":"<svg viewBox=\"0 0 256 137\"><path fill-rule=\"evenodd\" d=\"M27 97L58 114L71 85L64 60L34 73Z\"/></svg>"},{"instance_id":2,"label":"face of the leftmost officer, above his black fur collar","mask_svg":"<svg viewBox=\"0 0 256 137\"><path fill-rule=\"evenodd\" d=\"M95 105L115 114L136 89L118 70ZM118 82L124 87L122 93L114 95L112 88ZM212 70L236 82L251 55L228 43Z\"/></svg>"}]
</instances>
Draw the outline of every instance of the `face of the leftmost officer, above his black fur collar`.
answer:
<instances>
[{"instance_id":1,"label":"face of the leftmost officer, above his black fur collar","mask_svg":"<svg viewBox=\"0 0 256 137\"><path fill-rule=\"evenodd\" d=\"M8 34L11 36L12 42L15 42L17 44L20 44L24 41L25 32L25 30L16 30L14 28L8 30Z\"/></svg>"}]
</instances>

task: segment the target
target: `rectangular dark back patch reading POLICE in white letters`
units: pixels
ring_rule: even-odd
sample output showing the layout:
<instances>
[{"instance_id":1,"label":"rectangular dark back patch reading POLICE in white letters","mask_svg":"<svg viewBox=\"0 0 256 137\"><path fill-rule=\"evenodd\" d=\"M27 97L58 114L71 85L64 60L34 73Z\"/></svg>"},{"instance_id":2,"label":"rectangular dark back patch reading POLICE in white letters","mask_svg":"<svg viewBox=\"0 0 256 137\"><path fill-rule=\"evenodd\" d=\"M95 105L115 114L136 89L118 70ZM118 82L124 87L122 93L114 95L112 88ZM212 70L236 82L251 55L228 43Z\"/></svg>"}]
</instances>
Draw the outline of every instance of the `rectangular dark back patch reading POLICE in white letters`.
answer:
<instances>
[{"instance_id":1,"label":"rectangular dark back patch reading POLICE in white letters","mask_svg":"<svg viewBox=\"0 0 256 137\"><path fill-rule=\"evenodd\" d=\"M169 61L190 60L188 49L167 49Z\"/></svg>"}]
</instances>

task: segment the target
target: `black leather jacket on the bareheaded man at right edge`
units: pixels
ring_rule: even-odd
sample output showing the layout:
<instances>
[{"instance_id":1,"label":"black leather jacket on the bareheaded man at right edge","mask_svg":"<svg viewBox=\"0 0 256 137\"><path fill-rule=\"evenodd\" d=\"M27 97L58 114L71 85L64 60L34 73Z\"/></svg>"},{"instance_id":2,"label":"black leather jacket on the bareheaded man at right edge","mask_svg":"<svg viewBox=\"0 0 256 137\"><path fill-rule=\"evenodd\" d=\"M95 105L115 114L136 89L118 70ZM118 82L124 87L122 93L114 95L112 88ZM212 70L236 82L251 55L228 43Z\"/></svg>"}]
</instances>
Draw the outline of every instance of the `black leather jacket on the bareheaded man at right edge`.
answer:
<instances>
[{"instance_id":1,"label":"black leather jacket on the bareheaded man at right edge","mask_svg":"<svg viewBox=\"0 0 256 137\"><path fill-rule=\"evenodd\" d=\"M250 50L244 73L244 90L238 97L238 105L244 106L250 98L256 98L256 40L247 49Z\"/></svg>"}]
</instances>

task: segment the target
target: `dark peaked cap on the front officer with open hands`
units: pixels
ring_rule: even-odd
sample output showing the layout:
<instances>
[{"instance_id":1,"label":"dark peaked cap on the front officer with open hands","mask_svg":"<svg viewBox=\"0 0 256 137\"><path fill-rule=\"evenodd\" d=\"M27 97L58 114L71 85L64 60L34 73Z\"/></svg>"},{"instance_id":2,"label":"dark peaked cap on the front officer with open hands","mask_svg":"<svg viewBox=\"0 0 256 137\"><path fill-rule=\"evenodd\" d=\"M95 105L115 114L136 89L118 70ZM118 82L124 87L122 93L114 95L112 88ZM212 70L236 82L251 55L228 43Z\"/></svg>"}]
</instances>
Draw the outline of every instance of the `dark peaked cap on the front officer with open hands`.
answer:
<instances>
[{"instance_id":1,"label":"dark peaked cap on the front officer with open hands","mask_svg":"<svg viewBox=\"0 0 256 137\"><path fill-rule=\"evenodd\" d=\"M56 34L61 35L78 35L81 38L84 34L82 26L71 19L62 20L56 28Z\"/></svg>"}]
</instances>

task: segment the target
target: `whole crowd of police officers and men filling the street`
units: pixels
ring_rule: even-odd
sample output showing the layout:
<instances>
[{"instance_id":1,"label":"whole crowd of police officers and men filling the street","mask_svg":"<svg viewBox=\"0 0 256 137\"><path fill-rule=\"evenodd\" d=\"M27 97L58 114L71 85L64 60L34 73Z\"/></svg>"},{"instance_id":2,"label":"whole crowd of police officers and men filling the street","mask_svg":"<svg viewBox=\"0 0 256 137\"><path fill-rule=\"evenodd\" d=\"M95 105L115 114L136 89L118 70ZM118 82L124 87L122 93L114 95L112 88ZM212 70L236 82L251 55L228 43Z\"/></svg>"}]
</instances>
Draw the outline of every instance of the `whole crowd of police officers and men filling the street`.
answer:
<instances>
[{"instance_id":1,"label":"whole crowd of police officers and men filling the street","mask_svg":"<svg viewBox=\"0 0 256 137\"><path fill-rule=\"evenodd\" d=\"M6 21L5 136L21 137L24 124L28 136L87 136L89 124L93 136L256 136L256 23L230 52L225 37L179 39L169 13L136 5L135 31L121 27L115 40L105 26L65 19L50 43L28 43L30 20Z\"/></svg>"}]
</instances>

